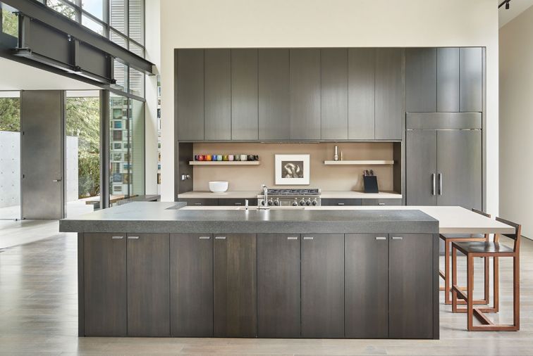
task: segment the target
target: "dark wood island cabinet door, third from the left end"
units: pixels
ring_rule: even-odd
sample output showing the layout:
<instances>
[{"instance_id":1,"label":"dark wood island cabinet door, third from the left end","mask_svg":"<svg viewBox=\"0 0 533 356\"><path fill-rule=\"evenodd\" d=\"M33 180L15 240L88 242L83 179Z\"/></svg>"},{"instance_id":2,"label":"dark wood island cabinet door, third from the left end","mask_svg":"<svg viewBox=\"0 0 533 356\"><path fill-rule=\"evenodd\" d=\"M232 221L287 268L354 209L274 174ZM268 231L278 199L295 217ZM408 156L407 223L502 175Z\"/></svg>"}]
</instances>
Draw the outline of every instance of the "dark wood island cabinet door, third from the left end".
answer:
<instances>
[{"instance_id":1,"label":"dark wood island cabinet door, third from the left end","mask_svg":"<svg viewBox=\"0 0 533 356\"><path fill-rule=\"evenodd\" d=\"M211 234L171 234L171 336L213 336Z\"/></svg>"}]
</instances>

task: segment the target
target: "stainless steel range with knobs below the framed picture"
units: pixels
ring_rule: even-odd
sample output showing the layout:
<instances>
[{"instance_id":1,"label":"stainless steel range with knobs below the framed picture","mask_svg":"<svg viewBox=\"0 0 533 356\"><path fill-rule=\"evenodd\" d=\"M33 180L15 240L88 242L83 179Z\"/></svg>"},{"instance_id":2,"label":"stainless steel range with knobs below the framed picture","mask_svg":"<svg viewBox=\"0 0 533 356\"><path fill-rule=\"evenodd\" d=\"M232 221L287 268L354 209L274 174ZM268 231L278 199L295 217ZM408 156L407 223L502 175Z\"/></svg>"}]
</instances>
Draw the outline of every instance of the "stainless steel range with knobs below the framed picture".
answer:
<instances>
[{"instance_id":1,"label":"stainless steel range with knobs below the framed picture","mask_svg":"<svg viewBox=\"0 0 533 356\"><path fill-rule=\"evenodd\" d=\"M264 194L257 196L259 205L264 204ZM268 189L267 206L318 206L320 189Z\"/></svg>"}]
</instances>

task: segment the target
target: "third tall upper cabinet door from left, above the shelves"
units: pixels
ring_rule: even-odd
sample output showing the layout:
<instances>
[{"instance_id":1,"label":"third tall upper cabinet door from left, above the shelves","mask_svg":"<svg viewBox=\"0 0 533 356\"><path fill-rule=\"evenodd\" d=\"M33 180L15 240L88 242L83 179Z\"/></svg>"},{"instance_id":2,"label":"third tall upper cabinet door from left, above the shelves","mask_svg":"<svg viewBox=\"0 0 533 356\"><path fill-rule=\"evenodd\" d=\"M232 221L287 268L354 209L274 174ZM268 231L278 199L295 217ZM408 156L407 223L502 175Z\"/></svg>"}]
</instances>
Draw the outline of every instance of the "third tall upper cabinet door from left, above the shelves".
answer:
<instances>
[{"instance_id":1,"label":"third tall upper cabinet door from left, above the shelves","mask_svg":"<svg viewBox=\"0 0 533 356\"><path fill-rule=\"evenodd\" d=\"M232 49L232 140L258 139L257 105L257 49Z\"/></svg>"}]
</instances>

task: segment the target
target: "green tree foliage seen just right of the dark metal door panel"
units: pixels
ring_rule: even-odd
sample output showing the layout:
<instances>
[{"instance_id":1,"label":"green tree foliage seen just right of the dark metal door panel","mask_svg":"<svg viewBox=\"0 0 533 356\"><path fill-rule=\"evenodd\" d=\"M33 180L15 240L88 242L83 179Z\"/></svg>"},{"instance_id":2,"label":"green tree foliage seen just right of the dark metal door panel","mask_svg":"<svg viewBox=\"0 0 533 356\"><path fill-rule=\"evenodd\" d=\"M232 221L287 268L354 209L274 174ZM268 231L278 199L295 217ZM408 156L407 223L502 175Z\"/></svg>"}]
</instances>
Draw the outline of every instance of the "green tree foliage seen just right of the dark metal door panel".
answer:
<instances>
[{"instance_id":1,"label":"green tree foliage seen just right of the dark metal door panel","mask_svg":"<svg viewBox=\"0 0 533 356\"><path fill-rule=\"evenodd\" d=\"M67 98L66 132L78 136L78 195L100 193L100 106L98 98Z\"/></svg>"}]
</instances>

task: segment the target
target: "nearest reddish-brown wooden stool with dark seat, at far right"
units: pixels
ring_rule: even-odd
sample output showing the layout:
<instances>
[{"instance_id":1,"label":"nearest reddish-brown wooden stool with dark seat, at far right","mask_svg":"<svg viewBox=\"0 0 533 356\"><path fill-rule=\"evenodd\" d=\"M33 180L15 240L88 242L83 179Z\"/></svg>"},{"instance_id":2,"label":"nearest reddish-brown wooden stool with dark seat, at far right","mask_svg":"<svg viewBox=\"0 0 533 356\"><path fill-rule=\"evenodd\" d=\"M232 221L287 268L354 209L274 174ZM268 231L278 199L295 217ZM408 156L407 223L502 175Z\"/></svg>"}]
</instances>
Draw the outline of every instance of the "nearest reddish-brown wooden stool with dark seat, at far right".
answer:
<instances>
[{"instance_id":1,"label":"nearest reddish-brown wooden stool with dark seat, at far right","mask_svg":"<svg viewBox=\"0 0 533 356\"><path fill-rule=\"evenodd\" d=\"M515 228L514 234L503 234L514 240L513 248L501 245L500 236L494 234L494 242L454 242L452 243L452 311L467 313L468 331L517 331L520 329L520 233L522 226L496 217L496 220ZM457 286L457 250L467 257L467 294ZM474 307L474 257L494 258L494 306ZM499 264L498 258L513 258L513 324L494 324L484 313L498 312L499 310ZM458 298L465 300L466 308L458 308ZM482 323L474 326L474 315Z\"/></svg>"}]
</instances>

